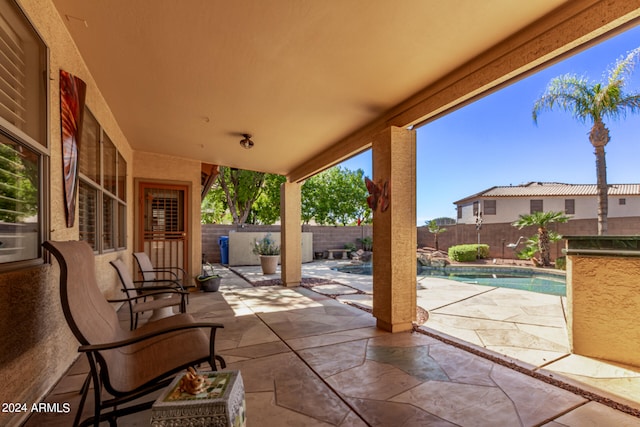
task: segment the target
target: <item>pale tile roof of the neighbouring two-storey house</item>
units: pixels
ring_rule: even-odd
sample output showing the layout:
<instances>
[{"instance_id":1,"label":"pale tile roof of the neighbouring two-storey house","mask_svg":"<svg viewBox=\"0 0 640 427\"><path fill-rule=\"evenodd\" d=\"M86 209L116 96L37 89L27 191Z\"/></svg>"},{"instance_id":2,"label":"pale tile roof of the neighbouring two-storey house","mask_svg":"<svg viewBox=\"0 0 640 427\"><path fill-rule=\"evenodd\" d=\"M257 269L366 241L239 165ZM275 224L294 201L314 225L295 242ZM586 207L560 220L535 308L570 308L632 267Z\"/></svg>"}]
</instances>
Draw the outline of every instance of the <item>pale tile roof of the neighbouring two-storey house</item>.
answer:
<instances>
[{"instance_id":1,"label":"pale tile roof of the neighbouring two-storey house","mask_svg":"<svg viewBox=\"0 0 640 427\"><path fill-rule=\"evenodd\" d=\"M529 182L522 185L496 186L460 199L454 204L486 197L552 197L595 196L596 184L564 184L560 182ZM640 196L640 184L609 184L609 196Z\"/></svg>"}]
</instances>

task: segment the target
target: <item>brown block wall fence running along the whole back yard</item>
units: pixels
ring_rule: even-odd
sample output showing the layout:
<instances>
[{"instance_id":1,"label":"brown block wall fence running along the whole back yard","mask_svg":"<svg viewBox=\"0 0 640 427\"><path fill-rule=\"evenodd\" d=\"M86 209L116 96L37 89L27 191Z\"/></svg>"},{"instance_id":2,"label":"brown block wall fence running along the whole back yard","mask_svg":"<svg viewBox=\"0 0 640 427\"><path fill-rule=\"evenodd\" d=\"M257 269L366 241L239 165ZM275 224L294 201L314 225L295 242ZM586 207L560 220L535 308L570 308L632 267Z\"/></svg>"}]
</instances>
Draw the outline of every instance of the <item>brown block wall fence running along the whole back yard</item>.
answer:
<instances>
[{"instance_id":1,"label":"brown block wall fence running along the whole back yard","mask_svg":"<svg viewBox=\"0 0 640 427\"><path fill-rule=\"evenodd\" d=\"M640 235L640 216L627 218L609 218L610 236ZM447 251L450 246L466 243L477 243L478 233L473 224L459 224L445 227L447 231L438 235L438 248ZM346 243L355 243L360 247L357 239L373 236L373 227L364 225L360 227L343 226L317 226L302 225L303 232L313 233L313 252L323 252L326 257L327 249L341 249ZM586 236L597 234L597 222L595 219L571 220L565 224L551 224L553 230L563 236ZM242 232L278 232L279 225L202 225L202 251L207 262L220 262L220 245L218 239L221 236L228 236L229 233ZM508 248L509 243L515 243L520 236L530 237L537 233L535 227L527 227L518 230L511 224L485 224L480 229L480 243L488 244L491 258L516 258L515 252ZM434 248L435 239L429 233L427 227L418 227L418 248ZM551 259L562 256L562 249L565 241L561 240L552 245ZM522 244L518 250L523 248Z\"/></svg>"}]
</instances>

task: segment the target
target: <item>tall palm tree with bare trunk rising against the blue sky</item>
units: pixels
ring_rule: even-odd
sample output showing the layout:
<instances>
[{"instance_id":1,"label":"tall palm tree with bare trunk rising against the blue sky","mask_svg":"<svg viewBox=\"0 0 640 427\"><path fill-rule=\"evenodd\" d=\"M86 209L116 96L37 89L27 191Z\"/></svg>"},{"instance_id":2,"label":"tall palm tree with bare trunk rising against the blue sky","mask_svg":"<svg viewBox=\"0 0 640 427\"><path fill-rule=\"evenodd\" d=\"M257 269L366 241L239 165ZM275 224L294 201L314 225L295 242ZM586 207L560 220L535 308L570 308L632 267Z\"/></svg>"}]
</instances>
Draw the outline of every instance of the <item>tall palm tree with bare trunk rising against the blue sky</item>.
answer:
<instances>
[{"instance_id":1,"label":"tall palm tree with bare trunk rising against the blue sky","mask_svg":"<svg viewBox=\"0 0 640 427\"><path fill-rule=\"evenodd\" d=\"M635 113L640 109L640 93L625 93L623 88L638 60L640 48L619 59L609 70L607 81L589 82L584 77L567 74L553 78L540 99L533 106L533 121L545 110L558 107L571 113L581 123L592 124L589 141L595 148L596 176L598 188L598 234L607 234L607 214L609 210L607 167L604 147L610 141L609 129L604 119L615 120L624 117L627 111Z\"/></svg>"}]
</instances>

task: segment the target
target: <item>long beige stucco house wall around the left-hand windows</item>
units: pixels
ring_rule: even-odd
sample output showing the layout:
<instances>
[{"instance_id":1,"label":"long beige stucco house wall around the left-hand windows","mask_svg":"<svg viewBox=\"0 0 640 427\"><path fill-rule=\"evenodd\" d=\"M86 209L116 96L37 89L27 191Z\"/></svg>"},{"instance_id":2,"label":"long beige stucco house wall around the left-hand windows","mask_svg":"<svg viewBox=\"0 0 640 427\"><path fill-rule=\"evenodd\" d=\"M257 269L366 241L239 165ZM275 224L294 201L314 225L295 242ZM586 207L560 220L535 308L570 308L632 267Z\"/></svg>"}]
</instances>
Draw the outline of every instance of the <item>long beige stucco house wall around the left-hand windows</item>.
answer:
<instances>
[{"instance_id":1,"label":"long beige stucco house wall around the left-hand windows","mask_svg":"<svg viewBox=\"0 0 640 427\"><path fill-rule=\"evenodd\" d=\"M78 227L67 228L62 195L59 72L64 69L87 84L86 103L128 164L132 189L132 151L95 81L73 44L57 10L49 0L20 0L23 10L49 48L49 233L52 240L77 240ZM129 191L127 203L133 200ZM77 214L77 213L76 213ZM128 211L128 222L133 212ZM127 246L132 245L131 230ZM109 261L124 252L96 256L99 284L108 296L120 294ZM128 253L128 252L127 252ZM64 319L59 302L58 266L0 273L0 401L39 402L78 356L78 343ZM28 414L0 413L0 425L17 425Z\"/></svg>"}]
</instances>

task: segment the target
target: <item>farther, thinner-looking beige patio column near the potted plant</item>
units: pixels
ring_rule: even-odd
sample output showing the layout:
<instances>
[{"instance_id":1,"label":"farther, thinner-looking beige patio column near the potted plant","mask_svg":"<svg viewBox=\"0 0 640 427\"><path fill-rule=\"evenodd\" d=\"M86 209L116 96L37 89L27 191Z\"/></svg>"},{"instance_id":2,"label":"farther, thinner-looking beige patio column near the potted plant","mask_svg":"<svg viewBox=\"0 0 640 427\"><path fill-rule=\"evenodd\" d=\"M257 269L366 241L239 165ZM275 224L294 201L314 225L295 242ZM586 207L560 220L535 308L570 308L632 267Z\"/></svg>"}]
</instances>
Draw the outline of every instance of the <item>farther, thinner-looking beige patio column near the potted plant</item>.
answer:
<instances>
[{"instance_id":1,"label":"farther, thinner-looking beige patio column near the potted plant","mask_svg":"<svg viewBox=\"0 0 640 427\"><path fill-rule=\"evenodd\" d=\"M280 259L283 286L300 286L302 281L302 227L300 226L300 184L285 182L280 187Z\"/></svg>"}]
</instances>

